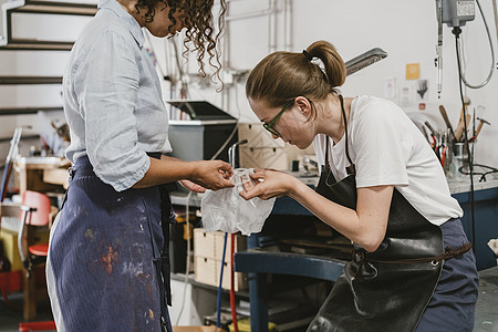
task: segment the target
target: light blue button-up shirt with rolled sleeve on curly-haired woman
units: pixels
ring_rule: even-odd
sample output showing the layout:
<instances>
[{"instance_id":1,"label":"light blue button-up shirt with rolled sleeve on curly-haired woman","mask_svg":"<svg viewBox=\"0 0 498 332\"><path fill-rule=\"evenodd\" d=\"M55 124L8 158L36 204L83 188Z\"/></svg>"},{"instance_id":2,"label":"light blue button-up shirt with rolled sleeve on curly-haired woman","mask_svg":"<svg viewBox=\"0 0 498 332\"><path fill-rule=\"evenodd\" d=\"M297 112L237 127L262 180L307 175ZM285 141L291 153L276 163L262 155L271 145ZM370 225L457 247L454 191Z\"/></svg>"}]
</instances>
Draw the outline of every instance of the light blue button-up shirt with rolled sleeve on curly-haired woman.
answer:
<instances>
[{"instance_id":1,"label":"light blue button-up shirt with rolled sleeve on curly-haired woman","mask_svg":"<svg viewBox=\"0 0 498 332\"><path fill-rule=\"evenodd\" d=\"M71 52L63 79L71 131L65 155L87 155L95 174L117 191L148 170L146 152L172 151L168 114L137 21L115 0L101 0Z\"/></svg>"}]
</instances>

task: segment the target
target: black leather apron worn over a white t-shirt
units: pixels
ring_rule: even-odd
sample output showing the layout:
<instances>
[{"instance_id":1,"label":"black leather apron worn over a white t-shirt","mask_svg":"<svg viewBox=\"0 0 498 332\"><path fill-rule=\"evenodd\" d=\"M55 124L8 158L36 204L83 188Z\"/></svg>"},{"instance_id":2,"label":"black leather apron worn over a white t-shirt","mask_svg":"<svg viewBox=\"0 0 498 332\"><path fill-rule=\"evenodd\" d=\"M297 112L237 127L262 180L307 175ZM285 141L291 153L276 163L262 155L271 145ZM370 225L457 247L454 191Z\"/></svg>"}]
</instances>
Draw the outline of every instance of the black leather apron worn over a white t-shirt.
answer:
<instances>
[{"instance_id":1,"label":"black leather apron worn over a white t-shirt","mask_svg":"<svg viewBox=\"0 0 498 332\"><path fill-rule=\"evenodd\" d=\"M343 107L342 96L340 96ZM347 154L347 125L343 107ZM317 191L342 206L356 208L356 181L351 163L336 181L329 167ZM394 189L387 230L381 246L367 252L354 246L353 261L311 322L308 331L414 331L437 286L444 256L439 227L430 224Z\"/></svg>"}]
</instances>

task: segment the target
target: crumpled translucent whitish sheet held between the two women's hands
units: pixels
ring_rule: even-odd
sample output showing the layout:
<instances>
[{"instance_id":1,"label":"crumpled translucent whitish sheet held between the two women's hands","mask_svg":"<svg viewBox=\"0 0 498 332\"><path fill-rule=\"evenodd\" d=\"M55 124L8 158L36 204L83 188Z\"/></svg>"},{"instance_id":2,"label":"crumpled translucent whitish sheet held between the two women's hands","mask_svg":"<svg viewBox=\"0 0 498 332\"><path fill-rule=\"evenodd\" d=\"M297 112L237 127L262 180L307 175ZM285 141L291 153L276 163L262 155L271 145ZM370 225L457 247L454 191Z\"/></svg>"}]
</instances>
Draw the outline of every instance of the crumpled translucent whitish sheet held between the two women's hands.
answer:
<instances>
[{"instance_id":1,"label":"crumpled translucent whitish sheet held between the two women's hands","mask_svg":"<svg viewBox=\"0 0 498 332\"><path fill-rule=\"evenodd\" d=\"M239 195L243 190L242 184L252 180L249 177L251 173L252 168L237 168L231 177L235 185L232 188L206 190L200 209L203 225L207 231L240 231L242 235L261 231L273 208L274 198L262 200L255 197L246 200Z\"/></svg>"}]
</instances>

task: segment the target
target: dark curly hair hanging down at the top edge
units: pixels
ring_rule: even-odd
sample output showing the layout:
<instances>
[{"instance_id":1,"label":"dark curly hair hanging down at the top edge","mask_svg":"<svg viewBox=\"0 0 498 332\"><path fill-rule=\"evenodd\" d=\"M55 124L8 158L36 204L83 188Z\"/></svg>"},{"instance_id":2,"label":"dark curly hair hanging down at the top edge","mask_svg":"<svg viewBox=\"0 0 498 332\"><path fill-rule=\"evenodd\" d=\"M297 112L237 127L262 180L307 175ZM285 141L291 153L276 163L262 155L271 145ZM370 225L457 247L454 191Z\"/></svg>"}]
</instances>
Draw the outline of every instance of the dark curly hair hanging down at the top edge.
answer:
<instances>
[{"instance_id":1,"label":"dark curly hair hanging down at the top edge","mask_svg":"<svg viewBox=\"0 0 498 332\"><path fill-rule=\"evenodd\" d=\"M226 0L220 0L217 33L215 33L215 22L211 12L215 0L137 0L135 8L138 12L139 8L146 8L146 22L152 22L154 21L155 8L158 2L169 8L168 18L172 23L168 27L168 31L172 33L172 37L175 34L174 27L177 23L177 20L173 17L176 12L179 13L179 19L186 23L187 31L184 40L184 58L187 59L188 52L197 52L198 73L203 77L206 77L204 58L207 53L209 56L208 63L215 70L210 76L210 81L215 82L215 77L217 77L222 84L219 75L221 71L220 51L217 45L219 44L219 39L225 28ZM188 45L190 42L194 44L191 49Z\"/></svg>"}]
</instances>

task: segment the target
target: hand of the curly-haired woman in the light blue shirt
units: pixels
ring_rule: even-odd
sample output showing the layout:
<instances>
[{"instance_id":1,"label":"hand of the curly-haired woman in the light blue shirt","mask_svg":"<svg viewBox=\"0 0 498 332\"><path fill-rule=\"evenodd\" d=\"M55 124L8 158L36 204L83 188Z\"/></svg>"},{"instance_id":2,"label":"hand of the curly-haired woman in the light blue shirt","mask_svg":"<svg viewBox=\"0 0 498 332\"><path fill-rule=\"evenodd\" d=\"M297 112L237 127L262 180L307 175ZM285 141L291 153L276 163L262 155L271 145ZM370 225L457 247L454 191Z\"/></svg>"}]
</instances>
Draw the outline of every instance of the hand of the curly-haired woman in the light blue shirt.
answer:
<instances>
[{"instance_id":1,"label":"hand of the curly-haired woman in the light blue shirt","mask_svg":"<svg viewBox=\"0 0 498 332\"><path fill-rule=\"evenodd\" d=\"M234 187L230 177L234 169L222 160L198 160L195 163L190 180L206 189L218 190Z\"/></svg>"}]
</instances>

